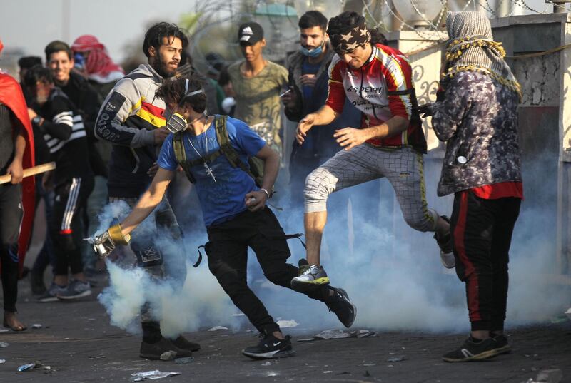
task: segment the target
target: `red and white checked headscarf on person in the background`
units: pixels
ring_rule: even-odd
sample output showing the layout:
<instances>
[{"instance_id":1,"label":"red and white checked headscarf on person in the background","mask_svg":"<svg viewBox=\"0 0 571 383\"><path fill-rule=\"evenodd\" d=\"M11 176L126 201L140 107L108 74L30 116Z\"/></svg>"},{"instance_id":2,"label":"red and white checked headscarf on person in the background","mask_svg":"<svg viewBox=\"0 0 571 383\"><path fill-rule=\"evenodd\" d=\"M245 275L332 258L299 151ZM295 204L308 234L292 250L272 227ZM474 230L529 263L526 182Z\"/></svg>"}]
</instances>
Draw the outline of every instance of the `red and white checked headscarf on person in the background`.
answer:
<instances>
[{"instance_id":1,"label":"red and white checked headscarf on person in the background","mask_svg":"<svg viewBox=\"0 0 571 383\"><path fill-rule=\"evenodd\" d=\"M111 72L121 72L125 74L121 66L113 63L105 46L98 41L96 36L90 34L79 36L76 41L74 41L74 44L71 44L71 50L79 53L89 52L85 63L88 75L97 75L101 78L105 78Z\"/></svg>"}]
</instances>

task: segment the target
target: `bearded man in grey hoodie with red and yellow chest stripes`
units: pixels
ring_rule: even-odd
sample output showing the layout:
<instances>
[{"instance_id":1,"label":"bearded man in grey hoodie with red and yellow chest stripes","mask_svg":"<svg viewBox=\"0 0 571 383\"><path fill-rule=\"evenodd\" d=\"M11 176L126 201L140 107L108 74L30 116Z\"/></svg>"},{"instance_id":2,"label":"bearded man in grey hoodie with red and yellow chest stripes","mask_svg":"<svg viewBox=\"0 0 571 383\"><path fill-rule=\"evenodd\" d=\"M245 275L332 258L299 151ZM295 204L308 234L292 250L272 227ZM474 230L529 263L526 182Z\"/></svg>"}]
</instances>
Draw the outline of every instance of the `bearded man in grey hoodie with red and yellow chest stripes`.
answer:
<instances>
[{"instance_id":1,"label":"bearded man in grey hoodie with red and yellow chest stripes","mask_svg":"<svg viewBox=\"0 0 571 383\"><path fill-rule=\"evenodd\" d=\"M95 134L113 144L107 184L111 202L124 201L133 208L156 173L157 155L169 131L165 127L165 103L156 98L155 91L165 78L175 75L186 46L188 38L178 26L165 22L155 24L147 31L143 42L148 63L141 64L119 80L103 101ZM155 218L161 233L180 240L181 230L166 198L156 209ZM152 237L154 235L133 238L130 247L138 265L159 279L163 278L166 267L168 275L182 284L186 277L183 259L172 252L162 253L153 244ZM158 359L168 350L176 351L178 357L185 357L200 349L200 345L182 336L176 339L163 337L159 322L151 315L148 305L141 310L141 327L141 357Z\"/></svg>"}]
</instances>

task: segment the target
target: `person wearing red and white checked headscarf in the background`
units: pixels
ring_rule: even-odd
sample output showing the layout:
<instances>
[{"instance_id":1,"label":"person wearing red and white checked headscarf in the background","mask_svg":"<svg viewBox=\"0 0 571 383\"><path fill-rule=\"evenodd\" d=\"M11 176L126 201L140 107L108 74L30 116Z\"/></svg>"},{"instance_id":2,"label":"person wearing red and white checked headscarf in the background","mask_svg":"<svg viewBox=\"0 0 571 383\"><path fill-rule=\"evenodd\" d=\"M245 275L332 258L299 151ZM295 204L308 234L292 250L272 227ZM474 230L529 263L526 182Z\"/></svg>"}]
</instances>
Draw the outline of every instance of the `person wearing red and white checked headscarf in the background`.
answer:
<instances>
[{"instance_id":1,"label":"person wearing red and white checked headscarf in the background","mask_svg":"<svg viewBox=\"0 0 571 383\"><path fill-rule=\"evenodd\" d=\"M107 49L96 36L84 34L71 45L74 55L84 58L84 69L91 86L96 88L101 98L106 98L115 82L125 76L121 66L113 63Z\"/></svg>"}]
</instances>

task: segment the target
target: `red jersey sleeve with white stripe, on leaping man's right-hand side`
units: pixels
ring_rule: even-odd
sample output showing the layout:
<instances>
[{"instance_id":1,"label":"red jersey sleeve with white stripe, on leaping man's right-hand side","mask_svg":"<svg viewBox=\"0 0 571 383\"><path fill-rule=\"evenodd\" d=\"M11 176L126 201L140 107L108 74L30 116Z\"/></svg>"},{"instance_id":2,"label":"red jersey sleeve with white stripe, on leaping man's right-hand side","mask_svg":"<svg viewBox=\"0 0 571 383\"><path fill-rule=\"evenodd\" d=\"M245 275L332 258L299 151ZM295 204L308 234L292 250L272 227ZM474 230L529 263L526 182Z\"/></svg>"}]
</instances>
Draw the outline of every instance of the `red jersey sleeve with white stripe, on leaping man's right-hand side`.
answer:
<instances>
[{"instance_id":1,"label":"red jersey sleeve with white stripe, on leaping man's right-hand side","mask_svg":"<svg viewBox=\"0 0 571 383\"><path fill-rule=\"evenodd\" d=\"M387 82L388 107L393 116L410 120L413 115L413 102L410 91L413 90L413 70L408 59L395 49L383 46L379 48L380 70Z\"/></svg>"}]
</instances>

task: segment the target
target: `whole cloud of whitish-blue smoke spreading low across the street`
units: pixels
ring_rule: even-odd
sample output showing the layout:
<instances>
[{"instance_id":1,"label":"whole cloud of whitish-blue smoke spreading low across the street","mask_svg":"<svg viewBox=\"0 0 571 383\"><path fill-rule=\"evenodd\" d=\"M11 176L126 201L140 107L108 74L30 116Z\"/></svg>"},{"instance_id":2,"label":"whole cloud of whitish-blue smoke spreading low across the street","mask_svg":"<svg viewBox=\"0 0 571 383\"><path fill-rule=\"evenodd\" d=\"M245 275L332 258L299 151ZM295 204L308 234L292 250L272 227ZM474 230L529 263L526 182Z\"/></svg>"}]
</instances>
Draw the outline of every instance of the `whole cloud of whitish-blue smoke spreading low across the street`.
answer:
<instances>
[{"instance_id":1,"label":"whole cloud of whitish-blue smoke spreading low across the street","mask_svg":"<svg viewBox=\"0 0 571 383\"><path fill-rule=\"evenodd\" d=\"M375 203L370 195L359 190L352 190L350 195L352 200L369 199L371 204ZM439 199L438 203L448 205L445 201ZM303 213L285 208L283 213L276 212L285 232L303 232ZM341 214L335 215L335 208L341 210ZM121 209L126 210L126 205L109 205L102 215L102 227L108 227L113 217L124 216ZM358 307L354 327L423 332L467 332L470 329L465 286L454 270L445 270L440 264L432 233L418 233L408 228L398 207L388 211L381 209L383 219L375 224L363 220L360 212L353 210L351 230L343 218L345 205L330 204L329 209L332 214L325 228L322 261L332 285L347 290ZM544 276L553 271L555 260L545 255L552 252L553 245L542 242L541 233L535 228L545 213L543 209L545 207L526 206L524 201L524 213L515 227L510 251L507 328L547 320L560 314L562 306L568 304L564 289L545 283ZM450 211L440 213L449 215ZM397 219L393 218L395 215ZM144 225L153 224L152 219L147 221ZM206 242L200 240L204 237L204 229L187 233L186 238L193 238L186 245L192 249L192 257L196 246ZM305 257L305 250L296 240L288 242L293 254L289 261L295 264ZM350 243L354 247L349 247ZM141 269L109 265L111 285L101 294L100 301L107 308L111 323L131 332L138 331L139 310L143 302L148 301L161 320L166 336L214 325L238 330L245 324L245 318L240 322L232 316L238 309L209 272L206 260L203 263L198 269L187 265L188 275L181 290L176 290L168 281L151 281ZM248 260L248 282L275 320L295 319L300 323L299 330L342 327L323 303L268 282L252 255Z\"/></svg>"}]
</instances>

